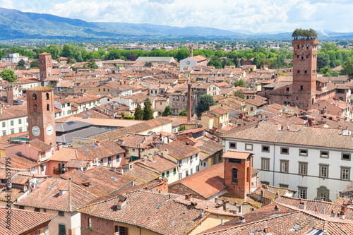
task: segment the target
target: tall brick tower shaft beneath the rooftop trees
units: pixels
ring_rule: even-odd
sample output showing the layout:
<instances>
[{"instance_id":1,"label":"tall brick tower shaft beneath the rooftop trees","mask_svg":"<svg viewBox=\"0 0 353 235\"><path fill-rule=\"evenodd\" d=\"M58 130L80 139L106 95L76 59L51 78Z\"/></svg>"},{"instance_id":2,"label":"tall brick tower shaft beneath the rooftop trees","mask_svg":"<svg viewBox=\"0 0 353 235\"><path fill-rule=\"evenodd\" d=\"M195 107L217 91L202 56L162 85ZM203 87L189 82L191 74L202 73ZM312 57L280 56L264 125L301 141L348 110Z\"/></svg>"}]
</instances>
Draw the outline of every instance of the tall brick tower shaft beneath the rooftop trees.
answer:
<instances>
[{"instance_id":1,"label":"tall brick tower shaft beneath the rooftop trees","mask_svg":"<svg viewBox=\"0 0 353 235\"><path fill-rule=\"evenodd\" d=\"M316 97L316 54L318 40L293 40L292 105L310 109Z\"/></svg>"}]
</instances>

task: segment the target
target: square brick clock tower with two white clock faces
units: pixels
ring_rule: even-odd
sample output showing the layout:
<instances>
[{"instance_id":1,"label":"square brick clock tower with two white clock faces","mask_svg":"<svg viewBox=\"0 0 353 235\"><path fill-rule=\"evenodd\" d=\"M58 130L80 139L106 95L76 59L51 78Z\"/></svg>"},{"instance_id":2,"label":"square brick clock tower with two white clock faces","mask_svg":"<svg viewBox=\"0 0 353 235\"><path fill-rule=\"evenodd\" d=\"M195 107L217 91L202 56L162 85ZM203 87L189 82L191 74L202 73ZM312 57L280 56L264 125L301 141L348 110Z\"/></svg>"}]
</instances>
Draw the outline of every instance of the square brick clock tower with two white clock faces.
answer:
<instances>
[{"instance_id":1,"label":"square brick clock tower with two white clock faces","mask_svg":"<svg viewBox=\"0 0 353 235\"><path fill-rule=\"evenodd\" d=\"M28 109L28 132L30 140L42 140L55 145L55 114L53 88L36 87L26 90Z\"/></svg>"}]
</instances>

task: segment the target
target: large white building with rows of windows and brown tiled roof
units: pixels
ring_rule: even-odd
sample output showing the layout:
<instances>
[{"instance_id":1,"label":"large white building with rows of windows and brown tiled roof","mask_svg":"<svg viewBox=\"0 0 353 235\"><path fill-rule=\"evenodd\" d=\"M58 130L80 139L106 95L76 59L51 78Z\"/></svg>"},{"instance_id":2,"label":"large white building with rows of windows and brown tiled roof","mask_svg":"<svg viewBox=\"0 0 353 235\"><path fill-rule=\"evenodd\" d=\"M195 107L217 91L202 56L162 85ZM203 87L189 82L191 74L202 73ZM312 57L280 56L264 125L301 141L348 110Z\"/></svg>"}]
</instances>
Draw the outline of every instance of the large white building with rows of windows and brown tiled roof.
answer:
<instances>
[{"instance_id":1,"label":"large white building with rows of windows and brown tiled roof","mask_svg":"<svg viewBox=\"0 0 353 235\"><path fill-rule=\"evenodd\" d=\"M261 183L295 190L298 198L334 201L352 180L353 136L340 129L285 131L262 124L222 137L225 152L254 153Z\"/></svg>"}]
</instances>

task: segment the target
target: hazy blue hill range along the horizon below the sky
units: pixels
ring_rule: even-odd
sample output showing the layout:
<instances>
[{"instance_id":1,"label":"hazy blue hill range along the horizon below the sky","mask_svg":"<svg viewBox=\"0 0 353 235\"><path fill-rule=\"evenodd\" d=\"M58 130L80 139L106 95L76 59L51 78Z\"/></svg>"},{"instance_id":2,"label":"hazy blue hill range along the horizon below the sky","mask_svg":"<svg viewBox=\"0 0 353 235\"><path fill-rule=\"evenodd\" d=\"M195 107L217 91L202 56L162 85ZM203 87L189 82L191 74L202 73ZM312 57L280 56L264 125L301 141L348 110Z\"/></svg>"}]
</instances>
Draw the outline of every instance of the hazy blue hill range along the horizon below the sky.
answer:
<instances>
[{"instance_id":1,"label":"hazy blue hill range along the horizon below the sky","mask_svg":"<svg viewBox=\"0 0 353 235\"><path fill-rule=\"evenodd\" d=\"M205 27L147 23L95 23L50 14L0 8L0 40L147 41L147 40L291 40L289 32L251 34ZM242 33L244 32L244 33ZM319 38L351 39L353 32L318 32Z\"/></svg>"}]
</instances>

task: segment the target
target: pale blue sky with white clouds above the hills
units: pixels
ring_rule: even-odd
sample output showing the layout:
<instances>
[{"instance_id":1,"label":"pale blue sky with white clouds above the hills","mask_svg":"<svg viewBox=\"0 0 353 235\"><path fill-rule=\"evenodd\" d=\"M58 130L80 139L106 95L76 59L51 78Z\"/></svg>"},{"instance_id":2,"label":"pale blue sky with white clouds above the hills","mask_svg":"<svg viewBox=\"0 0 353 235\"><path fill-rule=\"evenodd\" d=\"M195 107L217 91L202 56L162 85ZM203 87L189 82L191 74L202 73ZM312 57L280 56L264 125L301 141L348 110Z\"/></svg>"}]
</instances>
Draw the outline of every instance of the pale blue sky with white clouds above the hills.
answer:
<instances>
[{"instance_id":1,"label":"pale blue sky with white clouds above the hills","mask_svg":"<svg viewBox=\"0 0 353 235\"><path fill-rule=\"evenodd\" d=\"M0 6L86 21L250 32L353 31L352 0L0 0Z\"/></svg>"}]
</instances>

